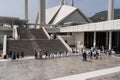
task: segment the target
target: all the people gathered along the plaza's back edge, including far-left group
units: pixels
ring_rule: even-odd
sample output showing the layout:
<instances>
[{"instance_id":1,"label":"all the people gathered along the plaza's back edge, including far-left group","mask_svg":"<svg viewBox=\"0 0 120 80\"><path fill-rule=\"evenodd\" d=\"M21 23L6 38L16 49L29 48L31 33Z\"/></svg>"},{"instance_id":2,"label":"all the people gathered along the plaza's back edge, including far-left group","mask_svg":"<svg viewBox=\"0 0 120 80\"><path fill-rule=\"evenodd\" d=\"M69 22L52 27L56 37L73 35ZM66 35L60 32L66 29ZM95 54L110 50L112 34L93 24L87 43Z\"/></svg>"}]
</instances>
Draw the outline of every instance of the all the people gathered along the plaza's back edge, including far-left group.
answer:
<instances>
[{"instance_id":1,"label":"all the people gathered along the plaza's back edge, including far-left group","mask_svg":"<svg viewBox=\"0 0 120 80\"><path fill-rule=\"evenodd\" d=\"M41 49L35 49L35 59L47 59L47 58L60 58L68 56L82 56L83 61L92 62L93 59L102 59L103 54L111 55L112 50L100 50L100 49L81 49L80 51L61 51L61 52L43 52ZM4 59L19 60L24 58L23 51L10 51Z\"/></svg>"}]
</instances>

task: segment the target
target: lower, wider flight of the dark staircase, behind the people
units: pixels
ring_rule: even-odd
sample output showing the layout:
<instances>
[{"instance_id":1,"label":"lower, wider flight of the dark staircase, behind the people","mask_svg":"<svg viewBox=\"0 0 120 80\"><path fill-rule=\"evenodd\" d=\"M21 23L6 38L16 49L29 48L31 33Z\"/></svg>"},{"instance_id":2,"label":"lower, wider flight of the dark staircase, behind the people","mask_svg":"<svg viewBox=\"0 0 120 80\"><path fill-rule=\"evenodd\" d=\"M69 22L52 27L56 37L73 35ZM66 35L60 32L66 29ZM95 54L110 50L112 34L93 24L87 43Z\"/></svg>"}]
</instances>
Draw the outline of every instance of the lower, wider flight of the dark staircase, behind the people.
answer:
<instances>
[{"instance_id":1,"label":"lower, wider flight of the dark staircase, behind the people","mask_svg":"<svg viewBox=\"0 0 120 80\"><path fill-rule=\"evenodd\" d=\"M61 52L66 51L66 47L60 40L8 40L8 51L24 51L26 56L34 55L34 50L39 48L43 52Z\"/></svg>"}]
</instances>

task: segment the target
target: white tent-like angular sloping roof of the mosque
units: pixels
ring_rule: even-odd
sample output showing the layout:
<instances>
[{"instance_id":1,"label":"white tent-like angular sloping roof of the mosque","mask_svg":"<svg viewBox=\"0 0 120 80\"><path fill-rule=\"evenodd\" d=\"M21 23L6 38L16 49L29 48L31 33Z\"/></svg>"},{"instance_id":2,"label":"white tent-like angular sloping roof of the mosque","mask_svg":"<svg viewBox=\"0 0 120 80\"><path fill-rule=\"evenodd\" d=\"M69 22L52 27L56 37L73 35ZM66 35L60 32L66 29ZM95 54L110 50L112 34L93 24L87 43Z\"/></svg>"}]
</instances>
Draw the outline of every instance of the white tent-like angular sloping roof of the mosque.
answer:
<instances>
[{"instance_id":1,"label":"white tent-like angular sloping roof of the mosque","mask_svg":"<svg viewBox=\"0 0 120 80\"><path fill-rule=\"evenodd\" d=\"M79 14L86 20L86 22L91 22L88 17L86 17L78 8L68 5L62 5L46 10L46 24L59 25L60 22L68 18L75 11L78 11ZM37 23L39 22L40 21L38 20Z\"/></svg>"}]
</instances>

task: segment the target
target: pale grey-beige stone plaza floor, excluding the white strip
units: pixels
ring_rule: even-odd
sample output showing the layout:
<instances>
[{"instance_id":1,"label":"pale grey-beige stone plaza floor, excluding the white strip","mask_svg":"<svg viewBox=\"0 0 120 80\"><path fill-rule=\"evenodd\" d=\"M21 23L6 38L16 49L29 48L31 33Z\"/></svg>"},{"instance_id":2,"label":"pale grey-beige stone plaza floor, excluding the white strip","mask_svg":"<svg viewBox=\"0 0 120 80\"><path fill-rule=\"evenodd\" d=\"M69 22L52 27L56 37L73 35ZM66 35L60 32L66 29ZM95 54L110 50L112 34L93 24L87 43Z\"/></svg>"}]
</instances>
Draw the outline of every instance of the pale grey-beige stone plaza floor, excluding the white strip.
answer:
<instances>
[{"instance_id":1,"label":"pale grey-beige stone plaza floor, excluding the white strip","mask_svg":"<svg viewBox=\"0 0 120 80\"><path fill-rule=\"evenodd\" d=\"M3 61L0 62L0 80L51 80L118 66L119 57L105 55L92 63L82 61L81 56ZM119 75L120 72L88 80L120 80Z\"/></svg>"}]
</instances>

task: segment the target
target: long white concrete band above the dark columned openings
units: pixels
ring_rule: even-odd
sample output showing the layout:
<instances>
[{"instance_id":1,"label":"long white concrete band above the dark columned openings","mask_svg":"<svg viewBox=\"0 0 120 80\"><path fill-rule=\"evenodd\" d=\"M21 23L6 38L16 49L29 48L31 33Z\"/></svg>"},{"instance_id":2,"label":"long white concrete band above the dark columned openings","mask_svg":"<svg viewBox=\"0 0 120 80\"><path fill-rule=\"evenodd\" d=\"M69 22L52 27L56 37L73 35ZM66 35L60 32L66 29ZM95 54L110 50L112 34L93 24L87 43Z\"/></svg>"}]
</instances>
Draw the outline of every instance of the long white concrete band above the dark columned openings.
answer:
<instances>
[{"instance_id":1,"label":"long white concrete band above the dark columned openings","mask_svg":"<svg viewBox=\"0 0 120 80\"><path fill-rule=\"evenodd\" d=\"M120 30L120 19L60 28L60 32L90 32L111 30Z\"/></svg>"}]
</instances>

